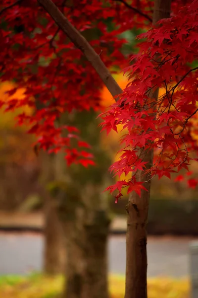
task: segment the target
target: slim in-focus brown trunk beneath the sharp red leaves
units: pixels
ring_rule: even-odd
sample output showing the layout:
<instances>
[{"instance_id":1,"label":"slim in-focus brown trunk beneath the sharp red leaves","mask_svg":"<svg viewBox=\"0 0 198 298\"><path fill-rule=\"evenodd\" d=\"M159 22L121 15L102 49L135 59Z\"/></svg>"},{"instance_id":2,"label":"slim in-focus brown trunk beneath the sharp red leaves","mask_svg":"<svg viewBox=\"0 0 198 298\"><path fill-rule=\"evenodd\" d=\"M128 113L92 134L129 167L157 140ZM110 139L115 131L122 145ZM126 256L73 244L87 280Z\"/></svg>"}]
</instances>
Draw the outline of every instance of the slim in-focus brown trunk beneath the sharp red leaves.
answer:
<instances>
[{"instance_id":1,"label":"slim in-focus brown trunk beneath the sharp red leaves","mask_svg":"<svg viewBox=\"0 0 198 298\"><path fill-rule=\"evenodd\" d=\"M161 18L170 17L171 0L155 0L153 24ZM158 93L158 92L156 92ZM156 97L157 94L153 94ZM144 159L146 169L152 166L153 151L150 150ZM143 173L142 173L143 174ZM138 172L138 176L142 176ZM140 178L141 179L141 178ZM147 175L143 176L145 188L141 197L133 193L126 206L127 240L126 240L126 284L125 298L147 298L147 219L150 198L150 182Z\"/></svg>"}]
</instances>

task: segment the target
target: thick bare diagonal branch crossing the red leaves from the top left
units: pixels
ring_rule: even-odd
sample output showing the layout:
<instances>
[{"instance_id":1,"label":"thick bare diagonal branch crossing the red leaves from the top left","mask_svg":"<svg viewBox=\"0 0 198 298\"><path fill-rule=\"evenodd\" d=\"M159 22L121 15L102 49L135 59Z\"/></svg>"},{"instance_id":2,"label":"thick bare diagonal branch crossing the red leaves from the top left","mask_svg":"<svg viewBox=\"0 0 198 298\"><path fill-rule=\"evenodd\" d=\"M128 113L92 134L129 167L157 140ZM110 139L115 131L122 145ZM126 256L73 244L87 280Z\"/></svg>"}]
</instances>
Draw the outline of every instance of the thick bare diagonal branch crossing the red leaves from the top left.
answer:
<instances>
[{"instance_id":1,"label":"thick bare diagonal branch crossing the red leaves from the top left","mask_svg":"<svg viewBox=\"0 0 198 298\"><path fill-rule=\"evenodd\" d=\"M38 0L38 2L49 13L58 27L69 37L73 44L80 49L87 60L92 64L96 72L99 74L103 83L109 92L118 100L118 95L122 93L122 89L112 77L99 55L91 47L88 41L80 34L78 30L68 21L68 19L60 12L57 6L51 0Z\"/></svg>"}]
</instances>

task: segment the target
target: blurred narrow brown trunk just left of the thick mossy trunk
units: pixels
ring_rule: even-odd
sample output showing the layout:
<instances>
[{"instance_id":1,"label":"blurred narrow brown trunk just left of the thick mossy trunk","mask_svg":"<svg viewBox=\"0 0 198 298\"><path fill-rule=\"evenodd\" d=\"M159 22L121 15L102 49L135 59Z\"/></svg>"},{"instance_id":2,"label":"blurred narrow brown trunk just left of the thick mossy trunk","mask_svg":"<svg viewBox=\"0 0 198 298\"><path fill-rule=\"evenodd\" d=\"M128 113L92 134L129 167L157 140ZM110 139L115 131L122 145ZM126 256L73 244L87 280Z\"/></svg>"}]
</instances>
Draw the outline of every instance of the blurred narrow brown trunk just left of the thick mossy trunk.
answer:
<instances>
[{"instance_id":1,"label":"blurred narrow brown trunk just left of the thick mossy trunk","mask_svg":"<svg viewBox=\"0 0 198 298\"><path fill-rule=\"evenodd\" d=\"M49 275L63 273L65 270L65 239L57 214L57 198L53 198L48 188L55 183L54 156L42 154L42 194L45 217L44 272Z\"/></svg>"}]
</instances>

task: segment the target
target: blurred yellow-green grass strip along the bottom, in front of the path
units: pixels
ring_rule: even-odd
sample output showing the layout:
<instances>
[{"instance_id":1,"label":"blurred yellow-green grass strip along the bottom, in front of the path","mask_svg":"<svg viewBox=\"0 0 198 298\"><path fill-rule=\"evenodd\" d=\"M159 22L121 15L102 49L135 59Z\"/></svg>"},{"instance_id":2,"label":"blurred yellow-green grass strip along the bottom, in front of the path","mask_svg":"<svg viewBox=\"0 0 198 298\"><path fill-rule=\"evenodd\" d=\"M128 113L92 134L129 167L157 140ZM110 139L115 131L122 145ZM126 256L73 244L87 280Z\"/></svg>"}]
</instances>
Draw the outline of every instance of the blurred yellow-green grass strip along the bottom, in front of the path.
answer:
<instances>
[{"instance_id":1,"label":"blurred yellow-green grass strip along the bottom, in front of the path","mask_svg":"<svg viewBox=\"0 0 198 298\"><path fill-rule=\"evenodd\" d=\"M56 298L60 297L63 277L45 277L33 274L28 277L0 277L0 298ZM190 298L189 281L166 278L148 279L148 298ZM124 277L110 276L111 298L124 297Z\"/></svg>"}]
</instances>

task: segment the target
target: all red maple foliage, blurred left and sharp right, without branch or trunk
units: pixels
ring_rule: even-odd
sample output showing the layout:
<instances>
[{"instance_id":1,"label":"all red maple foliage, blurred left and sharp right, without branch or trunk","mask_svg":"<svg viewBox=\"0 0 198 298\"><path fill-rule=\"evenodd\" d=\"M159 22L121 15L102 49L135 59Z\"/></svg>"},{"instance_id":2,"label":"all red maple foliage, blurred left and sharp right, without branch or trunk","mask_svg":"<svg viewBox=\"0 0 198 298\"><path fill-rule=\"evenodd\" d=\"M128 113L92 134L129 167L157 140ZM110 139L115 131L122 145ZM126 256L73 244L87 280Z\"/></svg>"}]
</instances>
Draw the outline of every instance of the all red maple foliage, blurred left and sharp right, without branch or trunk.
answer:
<instances>
[{"instance_id":1,"label":"all red maple foliage, blurred left and sharp right, without branch or trunk","mask_svg":"<svg viewBox=\"0 0 198 298\"><path fill-rule=\"evenodd\" d=\"M65 6L61 1L55 1L57 7L60 7L64 14L69 13L68 20L72 20L80 32L85 32L85 36L86 30L89 32L89 29L95 29L93 29L93 24L89 19L89 15L94 11L99 20L95 27L99 29L100 33L93 36L93 39L91 38L90 44L96 53L100 54L102 51L101 57L106 67L119 66L122 68L126 65L126 58L119 50L126 41L120 39L119 34L133 26L149 26L151 21L152 7L145 11L143 7L148 6L145 5L144 1L139 3L141 6L136 10L125 1L120 2L122 2L122 13L120 13L120 5L117 1L105 4L99 1L94 6L92 3L89 5L86 1L81 1L75 7ZM179 4L182 3L182 1L181 3L176 2L173 2L172 5L174 13L178 12ZM85 3L86 5L84 5ZM112 9L106 9L110 4L113 6ZM195 11L195 5L196 1L194 6L191 6L194 8L190 9ZM136 12L134 18L129 16L131 8ZM84 12L84 17L81 17L79 21L81 12ZM23 18L20 16L22 14L24 15ZM6 103L1 101L1 105L6 104L6 111L21 107L24 104L35 107L36 98L43 104L43 108L33 115L21 113L17 117L18 124L31 125L29 133L38 136L40 148L57 152L61 147L65 147L69 164L71 162L83 162L86 165L94 164L90 158L85 161L86 156L83 156L83 150L79 150L79 148L86 148L89 145L80 140L80 136L76 134L77 130L67 126L57 128L55 120L63 111L71 111L73 108L77 110L91 107L99 109L101 81L95 70L83 58L83 54L69 42L50 16L43 14L42 7L38 6L36 1L30 1L28 4L22 0L7 1L7 5L4 5L0 10L0 15L3 17L1 53L5 53L1 55L1 80L14 77L18 87L26 87L26 96L23 100L13 98L13 94L17 90L15 87L8 91L8 94L12 95L12 100ZM188 91L190 82L193 91L195 93L197 91L196 74L193 72L197 68L191 69L190 66L186 65L186 62L192 63L197 58L197 48L194 47L197 40L193 37L196 33L196 18L191 19L191 14L192 11L189 11L181 22L181 10L179 15L171 19L171 22L169 20L167 23L163 22L160 29L149 30L140 36L147 38L147 41L139 45L141 47L139 54L130 58L133 65L125 68L125 71L130 73L128 87L124 89L119 102L103 117L103 129L107 129L107 132L111 129L116 130L118 124L122 124L129 131L129 134L122 139L122 144L125 143L126 145L125 152L120 160L112 165L111 169L116 175L122 173L127 175L129 172L134 174L130 181L123 180L122 183L118 181L114 187L109 188L111 191L116 188L119 190L117 197L121 196L122 186L129 186L129 192L133 190L133 187L136 188L135 172L138 168L144 167L141 158L137 159L136 154L134 154L137 152L137 148L139 151L143 147L149 149L151 146L157 149L160 158L158 156L154 161L150 175L158 175L159 177L163 175L170 177L170 172L178 166L177 170L186 167L190 161L190 156L187 154L188 150L196 149L196 142L193 142L193 138L187 133L192 126L192 122L189 120L196 114L192 115L192 111L194 113L196 110L196 98L191 103L190 98L186 96L187 93L190 94ZM95 15L92 17L94 18ZM105 21L110 17L113 17L110 24L113 26L111 31L108 30L109 24L102 22L102 20ZM178 28L173 30L174 23ZM25 31L23 31L24 26ZM186 39L187 34L188 38ZM184 39L185 43L183 44ZM184 46L178 49L180 45ZM190 50L188 49L189 46L191 46ZM156 51L160 55L160 63L153 60ZM109 53L111 54L109 55ZM135 63L134 59L136 60ZM65 64L67 65L66 68ZM76 69L74 69L75 66ZM52 72L53 68L56 68L55 74ZM5 69L6 71L4 71ZM83 76L86 76L85 81L83 81ZM59 79L60 77L64 77L64 83ZM39 83L38 80L41 78L44 79ZM173 81L175 82L174 85L172 85ZM148 104L145 96L148 97L148 93L156 87L164 87L166 92L156 101L151 101ZM69 90L69 94L65 94L65 89ZM89 89L89 92L84 92L86 89ZM119 90L118 88L117 91ZM131 98L134 100L133 103L129 103ZM176 106L175 102L177 102ZM188 111L184 108L186 104L188 104ZM144 109L142 108L143 105ZM158 111L155 120L149 116L151 109ZM131 117L133 121L129 122ZM189 119L187 119L188 117ZM181 132L178 131L179 126L182 126ZM151 130L148 131L148 128ZM186 128L189 129L186 130ZM62 130L68 131L66 138L61 137ZM157 141L156 137L158 138ZM78 148L70 147L71 138L78 140ZM152 141L156 142L152 143ZM130 149L131 147L133 149ZM170 149L173 149L173 152L170 152Z\"/></svg>"}]
</instances>

